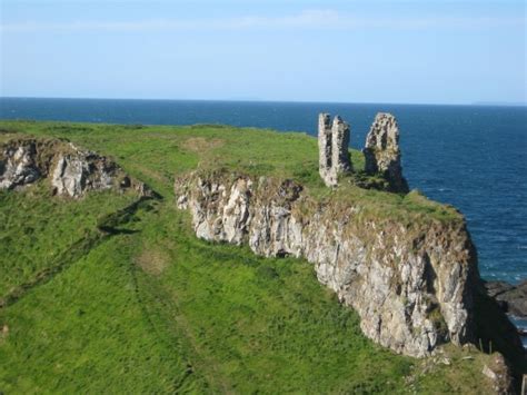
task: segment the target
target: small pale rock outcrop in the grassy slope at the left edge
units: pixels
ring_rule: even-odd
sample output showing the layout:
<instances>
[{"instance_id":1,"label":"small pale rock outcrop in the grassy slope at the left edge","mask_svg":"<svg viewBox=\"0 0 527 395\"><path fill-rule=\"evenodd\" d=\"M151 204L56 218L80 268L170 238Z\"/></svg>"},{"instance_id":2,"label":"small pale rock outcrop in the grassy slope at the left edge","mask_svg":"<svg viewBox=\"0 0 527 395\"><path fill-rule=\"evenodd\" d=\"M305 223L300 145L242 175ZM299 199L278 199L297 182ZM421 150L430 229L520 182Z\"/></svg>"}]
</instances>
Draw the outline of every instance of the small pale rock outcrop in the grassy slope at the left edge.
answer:
<instances>
[{"instance_id":1,"label":"small pale rock outcrop in the grassy slope at the left edge","mask_svg":"<svg viewBox=\"0 0 527 395\"><path fill-rule=\"evenodd\" d=\"M0 145L0 189L22 188L41 178L50 178L56 195L71 198L105 189L151 194L110 159L68 141L22 138Z\"/></svg>"}]
</instances>

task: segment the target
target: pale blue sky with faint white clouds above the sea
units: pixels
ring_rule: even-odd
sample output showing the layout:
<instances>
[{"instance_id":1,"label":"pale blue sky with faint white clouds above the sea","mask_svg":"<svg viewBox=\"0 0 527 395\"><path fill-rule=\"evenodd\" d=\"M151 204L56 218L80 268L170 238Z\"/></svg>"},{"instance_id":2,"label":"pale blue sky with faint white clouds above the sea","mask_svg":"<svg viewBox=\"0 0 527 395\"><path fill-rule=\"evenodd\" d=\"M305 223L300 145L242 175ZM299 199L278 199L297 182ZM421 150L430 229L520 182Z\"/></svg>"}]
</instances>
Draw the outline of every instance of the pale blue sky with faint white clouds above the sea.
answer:
<instances>
[{"instance_id":1,"label":"pale blue sky with faint white clouds above the sea","mask_svg":"<svg viewBox=\"0 0 527 395\"><path fill-rule=\"evenodd\" d=\"M0 0L0 96L526 102L523 0Z\"/></svg>"}]
</instances>

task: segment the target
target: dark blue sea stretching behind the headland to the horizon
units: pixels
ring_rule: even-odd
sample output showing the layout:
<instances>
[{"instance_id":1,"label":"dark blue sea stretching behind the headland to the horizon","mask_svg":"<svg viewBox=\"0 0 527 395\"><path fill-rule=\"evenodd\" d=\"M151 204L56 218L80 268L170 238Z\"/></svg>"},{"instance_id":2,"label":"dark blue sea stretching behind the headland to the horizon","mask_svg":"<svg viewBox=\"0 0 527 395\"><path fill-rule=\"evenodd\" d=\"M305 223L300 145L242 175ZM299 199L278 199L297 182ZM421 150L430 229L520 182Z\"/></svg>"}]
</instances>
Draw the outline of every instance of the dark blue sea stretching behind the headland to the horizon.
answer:
<instances>
[{"instance_id":1,"label":"dark blue sea stretching behind the headland to the horizon","mask_svg":"<svg viewBox=\"0 0 527 395\"><path fill-rule=\"evenodd\" d=\"M228 124L316 134L320 111L351 125L361 148L377 111L392 112L411 188L458 207L483 277L527 279L527 108L299 102L0 99L0 118L115 124Z\"/></svg>"}]
</instances>

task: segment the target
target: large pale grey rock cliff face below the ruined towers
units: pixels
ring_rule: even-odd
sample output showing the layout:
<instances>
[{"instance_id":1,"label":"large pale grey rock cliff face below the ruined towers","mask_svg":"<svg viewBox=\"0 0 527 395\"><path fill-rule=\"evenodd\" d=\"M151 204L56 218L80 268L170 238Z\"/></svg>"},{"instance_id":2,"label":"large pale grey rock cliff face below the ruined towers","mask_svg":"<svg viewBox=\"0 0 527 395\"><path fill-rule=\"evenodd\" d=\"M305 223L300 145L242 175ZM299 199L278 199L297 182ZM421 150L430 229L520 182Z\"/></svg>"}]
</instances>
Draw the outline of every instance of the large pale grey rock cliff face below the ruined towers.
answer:
<instances>
[{"instance_id":1,"label":"large pale grey rock cliff face below the ruined towers","mask_svg":"<svg viewBox=\"0 0 527 395\"><path fill-rule=\"evenodd\" d=\"M420 357L473 336L478 274L461 220L368 219L358 205L319 204L294 181L264 177L191 176L175 189L198 237L312 263L319 282L358 312L362 332L382 346Z\"/></svg>"}]
</instances>

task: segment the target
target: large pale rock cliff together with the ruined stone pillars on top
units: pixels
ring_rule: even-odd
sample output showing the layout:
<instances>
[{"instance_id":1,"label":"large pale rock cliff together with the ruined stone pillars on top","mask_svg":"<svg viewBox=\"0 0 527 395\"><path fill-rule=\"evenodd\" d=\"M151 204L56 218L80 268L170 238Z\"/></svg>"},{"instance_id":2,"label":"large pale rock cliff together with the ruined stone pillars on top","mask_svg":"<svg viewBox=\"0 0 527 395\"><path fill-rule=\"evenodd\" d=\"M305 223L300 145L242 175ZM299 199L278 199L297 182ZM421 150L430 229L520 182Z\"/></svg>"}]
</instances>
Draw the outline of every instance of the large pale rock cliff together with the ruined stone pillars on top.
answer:
<instances>
[{"instance_id":1,"label":"large pale rock cliff together with the ruined stone pillars on top","mask_svg":"<svg viewBox=\"0 0 527 395\"><path fill-rule=\"evenodd\" d=\"M340 117L331 122L329 115L319 116L319 174L332 191L324 199L292 179L198 170L176 180L177 205L190 211L200 238L247 244L266 257L307 259L318 280L358 312L366 336L397 353L422 357L444 343L493 343L478 300L499 323L498 337L519 349L513 325L493 300L481 299L477 253L464 217L455 209L434 216L431 203L416 191L404 197L408 184L395 118L377 115L362 150L365 172L389 182L379 199L419 203L384 207L358 198L352 178L340 184L339 175L357 171L348 141L349 126Z\"/></svg>"}]
</instances>

